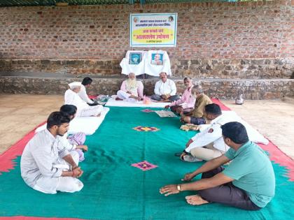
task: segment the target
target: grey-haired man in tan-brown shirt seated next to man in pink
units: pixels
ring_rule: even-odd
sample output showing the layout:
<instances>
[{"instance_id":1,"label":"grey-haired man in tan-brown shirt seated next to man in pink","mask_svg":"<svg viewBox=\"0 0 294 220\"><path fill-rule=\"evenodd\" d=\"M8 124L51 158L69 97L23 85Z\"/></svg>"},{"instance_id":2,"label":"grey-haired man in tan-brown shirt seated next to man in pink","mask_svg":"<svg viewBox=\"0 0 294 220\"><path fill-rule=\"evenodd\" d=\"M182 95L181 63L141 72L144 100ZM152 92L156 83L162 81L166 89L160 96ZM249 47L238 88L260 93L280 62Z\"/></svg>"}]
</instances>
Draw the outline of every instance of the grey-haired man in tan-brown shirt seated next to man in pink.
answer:
<instances>
[{"instance_id":1,"label":"grey-haired man in tan-brown shirt seated next to man in pink","mask_svg":"<svg viewBox=\"0 0 294 220\"><path fill-rule=\"evenodd\" d=\"M188 114L183 114L183 112L181 112L181 121L189 124L209 124L207 119L204 118L203 112L204 106L211 104L212 101L209 96L204 94L202 86L200 85L195 85L191 90L191 94L196 98L194 110L190 111Z\"/></svg>"}]
</instances>

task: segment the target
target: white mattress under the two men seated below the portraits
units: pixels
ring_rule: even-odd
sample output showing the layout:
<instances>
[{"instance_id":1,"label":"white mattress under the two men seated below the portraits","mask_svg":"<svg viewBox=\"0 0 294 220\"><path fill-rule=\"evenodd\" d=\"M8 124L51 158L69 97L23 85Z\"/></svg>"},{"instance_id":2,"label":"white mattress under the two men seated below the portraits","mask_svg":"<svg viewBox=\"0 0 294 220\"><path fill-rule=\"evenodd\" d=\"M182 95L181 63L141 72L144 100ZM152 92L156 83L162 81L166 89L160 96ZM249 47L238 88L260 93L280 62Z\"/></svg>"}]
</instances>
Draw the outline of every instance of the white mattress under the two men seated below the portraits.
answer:
<instances>
[{"instance_id":1,"label":"white mattress under the two men seated below the portraits","mask_svg":"<svg viewBox=\"0 0 294 220\"><path fill-rule=\"evenodd\" d=\"M165 105L169 105L170 103L155 103L151 102L151 104L146 105L143 104L143 101L138 102L130 102L130 101L116 101L115 98L110 98L105 106L113 106L113 107L141 107L141 108L165 108Z\"/></svg>"}]
</instances>

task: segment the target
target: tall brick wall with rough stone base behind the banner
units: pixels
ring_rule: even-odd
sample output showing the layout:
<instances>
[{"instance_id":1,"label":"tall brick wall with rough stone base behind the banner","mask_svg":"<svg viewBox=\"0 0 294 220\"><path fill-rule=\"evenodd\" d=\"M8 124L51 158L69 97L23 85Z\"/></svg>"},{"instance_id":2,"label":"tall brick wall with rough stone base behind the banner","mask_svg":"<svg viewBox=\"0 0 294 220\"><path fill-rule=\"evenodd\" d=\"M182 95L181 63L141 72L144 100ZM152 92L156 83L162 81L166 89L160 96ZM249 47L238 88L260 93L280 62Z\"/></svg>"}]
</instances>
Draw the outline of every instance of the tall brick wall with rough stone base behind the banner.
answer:
<instances>
[{"instance_id":1,"label":"tall brick wall with rough stone base behind the banner","mask_svg":"<svg viewBox=\"0 0 294 220\"><path fill-rule=\"evenodd\" d=\"M119 61L131 50L130 13L171 12L179 14L177 46L165 50L177 76L292 75L294 7L290 0L0 8L0 68L118 74ZM214 69L213 63L218 67Z\"/></svg>"}]
</instances>

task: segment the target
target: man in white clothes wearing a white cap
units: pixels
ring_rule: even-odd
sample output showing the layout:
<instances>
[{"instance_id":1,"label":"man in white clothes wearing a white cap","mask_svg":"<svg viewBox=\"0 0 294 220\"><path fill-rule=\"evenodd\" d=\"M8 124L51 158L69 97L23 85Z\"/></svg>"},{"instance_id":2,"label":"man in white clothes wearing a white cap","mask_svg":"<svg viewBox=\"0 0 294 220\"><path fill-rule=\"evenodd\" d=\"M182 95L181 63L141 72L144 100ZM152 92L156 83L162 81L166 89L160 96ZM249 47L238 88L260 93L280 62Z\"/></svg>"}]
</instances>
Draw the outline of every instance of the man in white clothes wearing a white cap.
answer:
<instances>
[{"instance_id":1,"label":"man in white clothes wearing a white cap","mask_svg":"<svg viewBox=\"0 0 294 220\"><path fill-rule=\"evenodd\" d=\"M100 113L103 110L102 105L90 106L85 101L83 101L83 99L78 96L80 87L80 82L69 83L69 89L67 89L64 94L64 104L76 105L76 108L78 108L76 112L77 117L100 116Z\"/></svg>"}]
</instances>

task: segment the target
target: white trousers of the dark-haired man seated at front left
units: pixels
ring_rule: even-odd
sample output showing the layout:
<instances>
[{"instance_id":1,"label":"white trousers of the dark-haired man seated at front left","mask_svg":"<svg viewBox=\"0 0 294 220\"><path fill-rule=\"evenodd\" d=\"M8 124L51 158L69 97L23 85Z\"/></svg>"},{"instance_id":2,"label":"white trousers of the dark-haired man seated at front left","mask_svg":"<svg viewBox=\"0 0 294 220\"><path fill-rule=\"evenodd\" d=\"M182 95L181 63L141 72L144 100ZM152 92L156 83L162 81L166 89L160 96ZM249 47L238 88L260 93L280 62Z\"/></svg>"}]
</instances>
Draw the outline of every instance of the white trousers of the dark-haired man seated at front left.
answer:
<instances>
[{"instance_id":1,"label":"white trousers of the dark-haired man seated at front left","mask_svg":"<svg viewBox=\"0 0 294 220\"><path fill-rule=\"evenodd\" d=\"M70 152L73 161L78 165L78 152ZM69 171L70 165L64 159L59 159L59 164L54 167L63 168L64 171ZM57 184L56 184L57 182ZM74 193L83 189L83 182L75 177L39 177L33 189L41 191L42 193L55 194L57 191Z\"/></svg>"}]
</instances>

